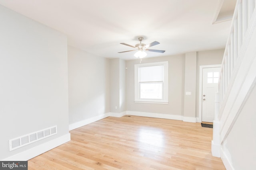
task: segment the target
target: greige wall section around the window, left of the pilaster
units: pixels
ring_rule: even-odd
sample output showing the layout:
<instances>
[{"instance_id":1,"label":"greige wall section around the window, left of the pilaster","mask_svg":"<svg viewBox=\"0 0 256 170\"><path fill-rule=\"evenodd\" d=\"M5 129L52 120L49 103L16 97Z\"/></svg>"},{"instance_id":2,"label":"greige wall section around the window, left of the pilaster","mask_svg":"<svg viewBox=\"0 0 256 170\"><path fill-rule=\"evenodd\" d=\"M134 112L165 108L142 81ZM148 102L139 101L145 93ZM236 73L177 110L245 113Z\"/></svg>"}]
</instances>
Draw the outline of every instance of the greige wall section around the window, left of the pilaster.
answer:
<instances>
[{"instance_id":1,"label":"greige wall section around the window, left of the pilaster","mask_svg":"<svg viewBox=\"0 0 256 170\"><path fill-rule=\"evenodd\" d=\"M168 100L169 104L134 103L134 64L139 59L126 61L126 110L149 113L182 115L184 104L184 62L185 55L145 58L142 63L168 61Z\"/></svg>"}]
</instances>

